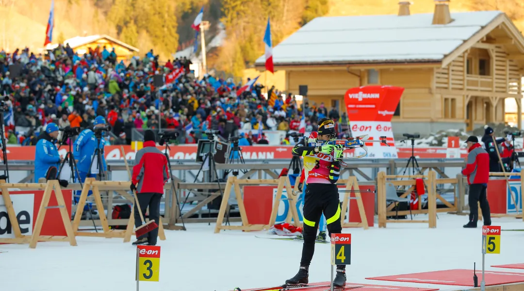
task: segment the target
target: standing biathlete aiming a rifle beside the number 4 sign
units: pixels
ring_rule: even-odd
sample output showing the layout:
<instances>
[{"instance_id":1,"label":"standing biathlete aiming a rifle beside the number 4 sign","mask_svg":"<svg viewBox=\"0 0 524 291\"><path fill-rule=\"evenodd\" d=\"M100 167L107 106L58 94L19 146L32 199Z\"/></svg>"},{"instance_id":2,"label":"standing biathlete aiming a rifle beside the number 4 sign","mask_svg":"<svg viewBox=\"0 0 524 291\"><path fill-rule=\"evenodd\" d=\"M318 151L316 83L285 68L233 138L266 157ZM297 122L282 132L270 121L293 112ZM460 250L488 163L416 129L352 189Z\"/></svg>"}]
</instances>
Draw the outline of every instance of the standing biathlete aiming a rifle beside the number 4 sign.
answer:
<instances>
[{"instance_id":1,"label":"standing biathlete aiming a rifle beside the number 4 sign","mask_svg":"<svg viewBox=\"0 0 524 291\"><path fill-rule=\"evenodd\" d=\"M323 144L316 146L316 141L328 141L335 138L335 122L328 118L319 121L318 138L302 138L294 146L292 154L304 157L305 195L303 207L303 238L302 259L300 268L294 277L286 280L288 285L306 285L309 283L309 265L315 251L315 237L322 213L330 233L341 233L341 206L336 182L340 176L340 162L332 159L326 161L318 155L334 154L340 158L344 151L343 145ZM315 146L310 147L310 143ZM319 142L319 144L321 144ZM337 265L333 286L343 287L346 284L345 265Z\"/></svg>"}]
</instances>

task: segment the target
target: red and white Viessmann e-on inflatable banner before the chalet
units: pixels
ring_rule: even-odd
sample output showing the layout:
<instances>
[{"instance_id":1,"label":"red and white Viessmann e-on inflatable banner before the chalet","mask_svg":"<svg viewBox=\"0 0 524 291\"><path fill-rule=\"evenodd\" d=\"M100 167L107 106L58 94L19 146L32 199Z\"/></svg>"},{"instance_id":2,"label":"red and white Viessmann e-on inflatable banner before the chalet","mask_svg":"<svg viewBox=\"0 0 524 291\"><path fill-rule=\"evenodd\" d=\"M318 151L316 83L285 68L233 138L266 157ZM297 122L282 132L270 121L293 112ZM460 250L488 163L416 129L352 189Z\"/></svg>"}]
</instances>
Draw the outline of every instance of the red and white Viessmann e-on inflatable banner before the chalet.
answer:
<instances>
[{"instance_id":1,"label":"red and white Viessmann e-on inflatable banner before the chalet","mask_svg":"<svg viewBox=\"0 0 524 291\"><path fill-rule=\"evenodd\" d=\"M395 147L391 118L400 101L404 88L393 86L363 86L348 89L344 95L347 117L350 119L350 128L353 136L368 135L369 139L377 140L386 137L387 145L367 143L366 158L400 158ZM355 154L363 150L357 149ZM408 155L409 156L409 155Z\"/></svg>"}]
</instances>

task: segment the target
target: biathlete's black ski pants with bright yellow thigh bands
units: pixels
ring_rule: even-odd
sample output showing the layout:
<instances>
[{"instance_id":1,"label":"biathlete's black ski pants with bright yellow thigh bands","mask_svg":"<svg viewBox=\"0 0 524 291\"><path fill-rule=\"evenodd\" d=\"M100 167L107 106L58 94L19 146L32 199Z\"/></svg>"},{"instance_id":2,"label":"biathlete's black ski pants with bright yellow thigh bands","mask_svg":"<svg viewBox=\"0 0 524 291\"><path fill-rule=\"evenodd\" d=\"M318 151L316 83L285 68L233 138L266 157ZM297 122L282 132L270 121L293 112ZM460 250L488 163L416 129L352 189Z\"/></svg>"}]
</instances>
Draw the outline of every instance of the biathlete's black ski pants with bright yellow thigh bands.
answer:
<instances>
[{"instance_id":1,"label":"biathlete's black ski pants with bright yellow thigh bands","mask_svg":"<svg viewBox=\"0 0 524 291\"><path fill-rule=\"evenodd\" d=\"M304 195L303 207L304 227L302 235L304 244L302 247L301 266L309 266L313 253L315 252L316 230L319 228L322 212L328 225L328 233L341 233L341 206L339 191L335 184L307 184ZM345 265L338 268L345 269Z\"/></svg>"}]
</instances>

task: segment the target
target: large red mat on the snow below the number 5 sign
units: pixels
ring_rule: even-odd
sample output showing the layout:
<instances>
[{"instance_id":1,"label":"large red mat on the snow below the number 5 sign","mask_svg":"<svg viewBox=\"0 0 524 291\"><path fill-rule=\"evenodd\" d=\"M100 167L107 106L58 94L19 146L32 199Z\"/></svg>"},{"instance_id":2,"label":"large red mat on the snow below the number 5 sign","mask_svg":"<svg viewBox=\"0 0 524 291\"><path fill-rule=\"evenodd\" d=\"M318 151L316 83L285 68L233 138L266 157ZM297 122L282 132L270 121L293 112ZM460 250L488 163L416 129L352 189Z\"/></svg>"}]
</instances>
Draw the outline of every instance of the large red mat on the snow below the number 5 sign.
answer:
<instances>
[{"instance_id":1,"label":"large red mat on the snow below the number 5 sign","mask_svg":"<svg viewBox=\"0 0 524 291\"><path fill-rule=\"evenodd\" d=\"M482 280L482 271L477 270L476 273L480 284L480 281ZM486 286L524 282L524 273L484 271L484 275L486 276ZM473 287L473 270L455 269L366 279Z\"/></svg>"}]
</instances>

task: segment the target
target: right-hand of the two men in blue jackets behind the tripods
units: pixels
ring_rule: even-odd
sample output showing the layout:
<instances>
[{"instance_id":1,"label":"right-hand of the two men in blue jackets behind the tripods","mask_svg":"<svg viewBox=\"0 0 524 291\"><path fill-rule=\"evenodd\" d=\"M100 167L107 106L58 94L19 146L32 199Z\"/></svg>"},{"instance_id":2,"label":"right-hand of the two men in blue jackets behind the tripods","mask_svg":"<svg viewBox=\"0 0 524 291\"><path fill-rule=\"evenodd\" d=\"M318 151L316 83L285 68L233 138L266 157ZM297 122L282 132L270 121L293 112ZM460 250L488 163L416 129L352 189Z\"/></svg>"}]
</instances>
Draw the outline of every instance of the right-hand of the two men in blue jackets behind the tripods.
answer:
<instances>
[{"instance_id":1,"label":"right-hand of the two men in blue jackets behind the tripods","mask_svg":"<svg viewBox=\"0 0 524 291\"><path fill-rule=\"evenodd\" d=\"M101 128L105 126L105 119L103 116L97 116L94 120L94 128ZM92 165L91 161L93 161L93 164L96 166L97 158L94 156L95 149L99 148L101 150L101 157L102 157L102 164L104 169L100 169L100 171L106 171L107 165L105 163L105 156L103 154L104 149L104 138L102 137L100 139L100 143L97 145L97 138L95 137L95 133L91 129L84 129L82 132L80 132L80 135L78 136L77 140L74 142L73 145L73 156L74 160L77 163L78 167L78 174L80 175L80 181L84 183L85 178L91 178L96 177L96 173L92 173ZM93 160L94 156L94 160ZM89 191L88 196L91 195L92 192ZM77 191L77 195L75 195L74 200L78 203L78 199L80 198L80 191ZM86 204L84 207L84 210L88 210L88 205Z\"/></svg>"}]
</instances>

